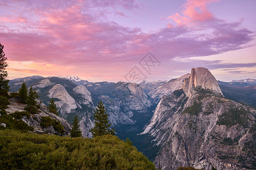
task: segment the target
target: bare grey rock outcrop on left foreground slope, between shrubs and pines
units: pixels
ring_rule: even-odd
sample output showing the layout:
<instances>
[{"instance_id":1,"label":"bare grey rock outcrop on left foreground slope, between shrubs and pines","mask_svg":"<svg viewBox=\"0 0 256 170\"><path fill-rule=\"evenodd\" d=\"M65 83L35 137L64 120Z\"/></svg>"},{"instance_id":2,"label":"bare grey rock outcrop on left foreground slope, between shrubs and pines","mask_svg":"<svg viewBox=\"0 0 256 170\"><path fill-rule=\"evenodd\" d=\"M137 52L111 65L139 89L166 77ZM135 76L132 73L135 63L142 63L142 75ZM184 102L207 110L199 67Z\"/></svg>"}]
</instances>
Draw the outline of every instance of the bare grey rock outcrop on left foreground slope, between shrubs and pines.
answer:
<instances>
[{"instance_id":1,"label":"bare grey rock outcrop on left foreground slope, between shrubs and pines","mask_svg":"<svg viewBox=\"0 0 256 170\"><path fill-rule=\"evenodd\" d=\"M39 133L39 134L56 134L56 135L68 135L70 134L70 131L72 129L72 125L65 120L64 118L61 118L57 116L54 113L49 112L48 108L45 104L40 102L40 100L36 100L36 104L39 105L39 113L34 114L33 116L26 117L24 116L22 118L22 121L24 121L28 126L34 127L33 133ZM9 108L6 109L7 114L14 113L14 112L23 112L25 111L26 105L21 104L16 99L10 99L10 105L8 105ZM63 125L63 128L65 132L61 134L59 131L55 130L53 126L49 126L47 128L44 128L40 125L42 122L42 117L51 117L53 120L59 121L61 125Z\"/></svg>"}]
</instances>

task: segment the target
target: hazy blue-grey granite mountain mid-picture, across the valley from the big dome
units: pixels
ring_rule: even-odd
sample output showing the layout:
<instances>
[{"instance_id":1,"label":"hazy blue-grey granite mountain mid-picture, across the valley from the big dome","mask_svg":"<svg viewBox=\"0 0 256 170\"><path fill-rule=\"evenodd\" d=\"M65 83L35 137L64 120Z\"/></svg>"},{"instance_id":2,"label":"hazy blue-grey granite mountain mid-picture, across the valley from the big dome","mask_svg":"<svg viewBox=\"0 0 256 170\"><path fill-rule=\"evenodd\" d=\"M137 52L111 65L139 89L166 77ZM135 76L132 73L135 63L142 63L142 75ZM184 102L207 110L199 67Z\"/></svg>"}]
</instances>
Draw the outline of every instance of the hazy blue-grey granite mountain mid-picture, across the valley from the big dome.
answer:
<instances>
[{"instance_id":1,"label":"hazy blue-grey granite mountain mid-picture, across the valley from the big dome","mask_svg":"<svg viewBox=\"0 0 256 170\"><path fill-rule=\"evenodd\" d=\"M109 96L99 96L98 100L104 103L113 125L135 124L134 114L147 113L152 105L152 101L136 83L118 82L112 92Z\"/></svg>"}]
</instances>

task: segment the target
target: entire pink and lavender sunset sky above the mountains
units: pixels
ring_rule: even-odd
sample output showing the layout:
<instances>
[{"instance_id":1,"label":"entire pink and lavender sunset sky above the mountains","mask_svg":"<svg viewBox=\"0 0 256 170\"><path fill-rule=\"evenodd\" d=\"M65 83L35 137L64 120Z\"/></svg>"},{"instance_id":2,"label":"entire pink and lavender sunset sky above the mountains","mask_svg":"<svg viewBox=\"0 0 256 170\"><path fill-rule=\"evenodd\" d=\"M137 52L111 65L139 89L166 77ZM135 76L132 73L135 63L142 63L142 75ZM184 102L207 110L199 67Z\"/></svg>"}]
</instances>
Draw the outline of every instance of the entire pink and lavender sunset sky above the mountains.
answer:
<instances>
[{"instance_id":1,"label":"entire pink and lavender sunset sky above the mountains","mask_svg":"<svg viewBox=\"0 0 256 170\"><path fill-rule=\"evenodd\" d=\"M254 0L0 0L9 79L256 79Z\"/></svg>"}]
</instances>

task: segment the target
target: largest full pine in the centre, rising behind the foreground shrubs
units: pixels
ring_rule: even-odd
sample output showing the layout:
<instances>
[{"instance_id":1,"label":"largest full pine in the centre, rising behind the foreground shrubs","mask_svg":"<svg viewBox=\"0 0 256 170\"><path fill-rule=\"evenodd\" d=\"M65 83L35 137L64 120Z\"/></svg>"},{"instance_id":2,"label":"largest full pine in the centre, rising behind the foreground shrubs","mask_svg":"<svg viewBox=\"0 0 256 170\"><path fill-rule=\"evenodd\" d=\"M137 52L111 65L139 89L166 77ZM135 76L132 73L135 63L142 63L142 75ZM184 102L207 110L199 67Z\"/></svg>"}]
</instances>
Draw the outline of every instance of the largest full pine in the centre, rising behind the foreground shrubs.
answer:
<instances>
[{"instance_id":1,"label":"largest full pine in the centre, rising behind the foreground shrubs","mask_svg":"<svg viewBox=\"0 0 256 170\"><path fill-rule=\"evenodd\" d=\"M92 133L93 137L107 134L115 134L114 128L110 129L110 126L112 124L109 123L108 113L106 113L106 109L102 101L98 103L96 111L94 111L93 117L95 120L95 126L94 128L90 129L90 132Z\"/></svg>"}]
</instances>

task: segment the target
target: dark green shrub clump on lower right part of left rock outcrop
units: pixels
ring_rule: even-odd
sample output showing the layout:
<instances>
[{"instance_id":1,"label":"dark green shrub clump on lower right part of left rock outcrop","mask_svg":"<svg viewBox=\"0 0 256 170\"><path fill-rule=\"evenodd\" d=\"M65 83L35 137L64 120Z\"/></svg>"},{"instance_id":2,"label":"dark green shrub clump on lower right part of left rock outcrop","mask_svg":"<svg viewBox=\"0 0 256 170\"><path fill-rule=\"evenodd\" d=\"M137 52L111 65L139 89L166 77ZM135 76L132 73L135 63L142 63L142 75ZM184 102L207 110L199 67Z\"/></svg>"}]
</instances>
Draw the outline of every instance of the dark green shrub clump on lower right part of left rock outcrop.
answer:
<instances>
[{"instance_id":1,"label":"dark green shrub clump on lower right part of left rock outcrop","mask_svg":"<svg viewBox=\"0 0 256 170\"><path fill-rule=\"evenodd\" d=\"M44 128L48 128L49 126L53 126L53 128L59 131L61 134L65 132L63 125L60 124L59 121L52 119L49 116L42 117L42 122L40 123Z\"/></svg>"}]
</instances>

